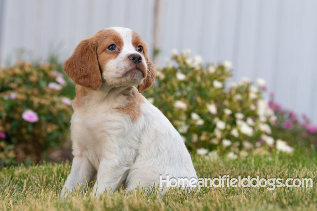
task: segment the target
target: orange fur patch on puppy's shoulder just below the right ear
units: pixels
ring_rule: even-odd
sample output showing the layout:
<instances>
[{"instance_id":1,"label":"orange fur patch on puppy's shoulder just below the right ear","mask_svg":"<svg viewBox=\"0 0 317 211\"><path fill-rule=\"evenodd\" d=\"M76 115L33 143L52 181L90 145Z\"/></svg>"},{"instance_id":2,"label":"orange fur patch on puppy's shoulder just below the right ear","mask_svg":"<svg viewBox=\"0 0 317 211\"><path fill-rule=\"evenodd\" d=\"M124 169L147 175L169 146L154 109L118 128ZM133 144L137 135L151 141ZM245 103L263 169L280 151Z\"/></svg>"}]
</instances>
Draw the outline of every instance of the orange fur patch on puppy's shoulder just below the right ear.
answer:
<instances>
[{"instance_id":1,"label":"orange fur patch on puppy's shoulder just below the right ear","mask_svg":"<svg viewBox=\"0 0 317 211\"><path fill-rule=\"evenodd\" d=\"M126 103L124 106L118 107L119 113L127 114L130 116L131 121L136 121L141 115L141 104L144 103L142 95L139 94L135 87L126 90Z\"/></svg>"}]
</instances>

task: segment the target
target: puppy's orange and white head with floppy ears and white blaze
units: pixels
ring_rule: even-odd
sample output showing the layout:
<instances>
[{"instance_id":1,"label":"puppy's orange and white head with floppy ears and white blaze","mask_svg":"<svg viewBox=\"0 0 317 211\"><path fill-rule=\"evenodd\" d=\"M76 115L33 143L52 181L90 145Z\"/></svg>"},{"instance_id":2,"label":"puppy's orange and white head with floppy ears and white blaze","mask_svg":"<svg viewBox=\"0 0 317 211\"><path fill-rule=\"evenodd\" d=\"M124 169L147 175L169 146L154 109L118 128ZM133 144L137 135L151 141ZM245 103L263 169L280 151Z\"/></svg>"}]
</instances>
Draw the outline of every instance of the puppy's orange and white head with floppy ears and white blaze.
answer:
<instances>
[{"instance_id":1,"label":"puppy's orange and white head with floppy ears and white blaze","mask_svg":"<svg viewBox=\"0 0 317 211\"><path fill-rule=\"evenodd\" d=\"M128 28L102 29L82 40L64 63L64 71L76 83L98 90L102 80L113 87L138 85L142 93L155 81L146 43Z\"/></svg>"}]
</instances>

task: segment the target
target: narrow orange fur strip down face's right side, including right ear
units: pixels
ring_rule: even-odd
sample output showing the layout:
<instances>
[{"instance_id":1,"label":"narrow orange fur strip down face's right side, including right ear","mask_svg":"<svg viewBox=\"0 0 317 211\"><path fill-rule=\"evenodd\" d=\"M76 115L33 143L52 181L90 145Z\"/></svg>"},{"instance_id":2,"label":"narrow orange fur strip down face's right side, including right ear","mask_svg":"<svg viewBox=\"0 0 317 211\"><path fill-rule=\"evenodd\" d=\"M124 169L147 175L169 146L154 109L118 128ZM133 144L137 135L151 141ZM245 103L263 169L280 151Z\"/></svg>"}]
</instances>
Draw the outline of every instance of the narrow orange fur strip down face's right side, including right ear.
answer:
<instances>
[{"instance_id":1,"label":"narrow orange fur strip down face's right side, including right ear","mask_svg":"<svg viewBox=\"0 0 317 211\"><path fill-rule=\"evenodd\" d=\"M138 90L140 93L142 93L154 84L156 74L155 74L155 70L154 70L154 65L147 55L147 53L148 53L147 45L144 42L144 40L141 39L139 34L136 33L135 31L132 31L132 45L136 48L138 46L142 46L143 52L140 52L140 53L143 53L143 55L146 59L147 74L145 75L143 83L138 85Z\"/></svg>"}]
</instances>

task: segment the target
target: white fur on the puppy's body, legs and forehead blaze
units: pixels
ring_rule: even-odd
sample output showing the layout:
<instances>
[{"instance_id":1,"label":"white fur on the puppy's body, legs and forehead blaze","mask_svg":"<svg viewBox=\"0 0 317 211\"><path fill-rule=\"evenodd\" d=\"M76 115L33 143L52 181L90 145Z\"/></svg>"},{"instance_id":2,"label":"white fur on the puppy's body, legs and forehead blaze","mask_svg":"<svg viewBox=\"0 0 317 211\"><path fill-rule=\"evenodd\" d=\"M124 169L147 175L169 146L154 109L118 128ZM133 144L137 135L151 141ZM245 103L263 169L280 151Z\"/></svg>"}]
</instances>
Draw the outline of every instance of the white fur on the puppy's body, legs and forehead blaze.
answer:
<instances>
[{"instance_id":1,"label":"white fur on the puppy's body, legs and forehead blaze","mask_svg":"<svg viewBox=\"0 0 317 211\"><path fill-rule=\"evenodd\" d=\"M126 40L131 42L129 31L115 30L124 38L125 47L132 47L126 43ZM124 182L126 191L139 184L158 186L160 175L197 178L180 134L159 109L142 96L145 101L141 104L142 114L132 121L129 115L114 109L125 103L126 96L121 91L126 85L113 91L112 85L104 83L98 91L86 89L84 106L74 108L71 119L74 160L61 198L78 184L94 179L96 173L97 196L108 188L120 188Z\"/></svg>"}]
</instances>

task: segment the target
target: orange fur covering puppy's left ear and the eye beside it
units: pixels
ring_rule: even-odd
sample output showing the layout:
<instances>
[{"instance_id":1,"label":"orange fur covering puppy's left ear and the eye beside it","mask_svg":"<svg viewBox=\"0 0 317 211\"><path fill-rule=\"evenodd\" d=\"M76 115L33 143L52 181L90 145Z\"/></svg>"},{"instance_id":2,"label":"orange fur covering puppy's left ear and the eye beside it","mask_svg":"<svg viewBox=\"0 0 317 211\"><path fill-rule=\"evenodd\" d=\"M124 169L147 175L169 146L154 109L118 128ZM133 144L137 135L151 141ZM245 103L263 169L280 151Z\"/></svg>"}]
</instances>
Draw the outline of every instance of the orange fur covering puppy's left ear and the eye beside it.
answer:
<instances>
[{"instance_id":1,"label":"orange fur covering puppy's left ear and the eye beside it","mask_svg":"<svg viewBox=\"0 0 317 211\"><path fill-rule=\"evenodd\" d=\"M111 44L115 44L118 50L108 51L107 47ZM64 71L76 84L98 90L102 83L100 67L115 59L122 46L123 40L118 32L113 29L100 30L77 45L65 61Z\"/></svg>"}]
</instances>

